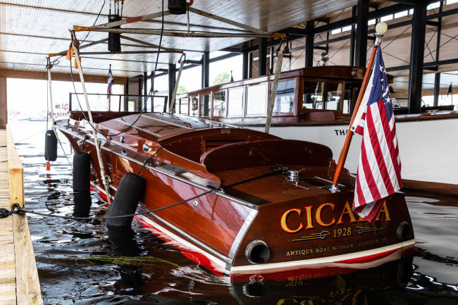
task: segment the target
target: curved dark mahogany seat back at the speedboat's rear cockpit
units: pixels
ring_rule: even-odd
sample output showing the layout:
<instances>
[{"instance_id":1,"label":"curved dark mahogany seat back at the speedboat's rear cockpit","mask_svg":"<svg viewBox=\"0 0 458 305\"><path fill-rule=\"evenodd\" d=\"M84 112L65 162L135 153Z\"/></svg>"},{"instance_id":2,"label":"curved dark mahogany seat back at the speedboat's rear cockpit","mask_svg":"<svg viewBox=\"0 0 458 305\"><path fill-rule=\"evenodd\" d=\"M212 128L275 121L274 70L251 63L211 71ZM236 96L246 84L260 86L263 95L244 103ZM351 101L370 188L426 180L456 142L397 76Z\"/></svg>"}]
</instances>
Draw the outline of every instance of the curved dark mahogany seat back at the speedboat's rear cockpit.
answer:
<instances>
[{"instance_id":1,"label":"curved dark mahogany seat back at the speedboat's rear cockpit","mask_svg":"<svg viewBox=\"0 0 458 305\"><path fill-rule=\"evenodd\" d=\"M266 139L226 144L200 158L210 173L259 166L329 166L333 152L326 146L291 139Z\"/></svg>"}]
</instances>

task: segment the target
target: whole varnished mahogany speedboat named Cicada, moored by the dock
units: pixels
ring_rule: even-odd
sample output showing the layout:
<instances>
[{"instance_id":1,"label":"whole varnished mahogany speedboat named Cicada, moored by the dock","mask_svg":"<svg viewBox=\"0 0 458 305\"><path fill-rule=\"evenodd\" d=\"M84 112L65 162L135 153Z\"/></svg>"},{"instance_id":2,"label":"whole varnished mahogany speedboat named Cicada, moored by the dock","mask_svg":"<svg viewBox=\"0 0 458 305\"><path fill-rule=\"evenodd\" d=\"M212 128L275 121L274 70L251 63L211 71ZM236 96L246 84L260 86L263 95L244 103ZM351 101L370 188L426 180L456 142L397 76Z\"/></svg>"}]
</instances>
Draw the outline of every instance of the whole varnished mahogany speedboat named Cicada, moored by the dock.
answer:
<instances>
[{"instance_id":1,"label":"whole varnished mahogany speedboat named Cicada, moored by the dock","mask_svg":"<svg viewBox=\"0 0 458 305\"><path fill-rule=\"evenodd\" d=\"M109 196L125 173L137 173L153 154L139 174L147 187L140 211L214 191L137 216L138 223L213 273L234 280L298 269L335 274L399 259L414 247L403 194L386 198L371 223L358 218L351 210L354 179L347 170L340 191L330 190L335 162L324 145L187 116L93 116L105 135L101 155L111 178ZM92 182L104 194L92 132L80 118L73 111L58 129L74 151L85 146Z\"/></svg>"}]
</instances>

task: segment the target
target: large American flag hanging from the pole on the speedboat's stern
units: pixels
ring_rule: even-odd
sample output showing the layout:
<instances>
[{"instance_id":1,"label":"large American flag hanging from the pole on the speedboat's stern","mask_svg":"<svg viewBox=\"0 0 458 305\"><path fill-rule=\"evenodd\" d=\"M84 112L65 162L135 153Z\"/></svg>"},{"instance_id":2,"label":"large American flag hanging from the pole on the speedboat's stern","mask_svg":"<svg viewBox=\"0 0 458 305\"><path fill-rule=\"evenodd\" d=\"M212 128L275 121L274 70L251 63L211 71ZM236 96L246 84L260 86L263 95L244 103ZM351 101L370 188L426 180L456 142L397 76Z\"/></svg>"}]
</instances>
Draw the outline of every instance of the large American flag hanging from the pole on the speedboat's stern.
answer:
<instances>
[{"instance_id":1,"label":"large American flag hanging from the pole on the speedboat's stern","mask_svg":"<svg viewBox=\"0 0 458 305\"><path fill-rule=\"evenodd\" d=\"M363 136L354 188L353 210L372 221L383 198L402 187L401 160L390 88L378 47L376 63L361 105L367 105L355 132Z\"/></svg>"}]
</instances>

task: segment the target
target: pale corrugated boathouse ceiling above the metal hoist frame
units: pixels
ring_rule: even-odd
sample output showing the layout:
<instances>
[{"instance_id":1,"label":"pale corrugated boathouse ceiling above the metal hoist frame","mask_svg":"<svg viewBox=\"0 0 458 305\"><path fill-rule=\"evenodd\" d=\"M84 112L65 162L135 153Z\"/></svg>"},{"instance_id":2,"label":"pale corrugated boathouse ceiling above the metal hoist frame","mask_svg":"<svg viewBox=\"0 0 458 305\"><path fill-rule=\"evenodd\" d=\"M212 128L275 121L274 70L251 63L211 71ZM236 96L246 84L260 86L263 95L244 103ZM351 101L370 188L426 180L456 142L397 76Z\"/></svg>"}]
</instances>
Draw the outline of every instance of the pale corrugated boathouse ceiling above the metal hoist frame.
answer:
<instances>
[{"instance_id":1,"label":"pale corrugated boathouse ceiling above the metal hoist frame","mask_svg":"<svg viewBox=\"0 0 458 305\"><path fill-rule=\"evenodd\" d=\"M161 1L125 0L123 16L135 17L161 11ZM328 13L340 11L353 6L356 0L195 0L192 7L207 11L239 23L251 25L268 32L275 32L285 27L303 23L312 18L318 18ZM89 1L1 1L0 2L0 69L44 71L46 55L68 48L70 34L68 29L73 25L90 26L94 24L103 0ZM167 1L164 1L167 6ZM167 9L167 7L165 7ZM109 0L105 0L104 8L97 24L106 23L109 13ZM156 20L161 20L157 18ZM168 15L166 22L186 23L185 15ZM204 18L190 13L190 23L213 27L235 28L216 20ZM160 29L161 23L134 23L127 27L147 27ZM185 30L186 27L166 24L166 30ZM192 27L194 30L205 30L202 27ZM207 29L208 30L208 29ZM212 30L221 32L221 30ZM86 32L78 32L82 40ZM152 44L159 44L159 37L148 35L126 35ZM86 42L93 42L108 37L108 33L91 32ZM176 49L195 51L216 51L227 46L244 42L247 38L178 38L163 37L163 46ZM141 47L140 44L121 39L123 51L154 50ZM140 46L140 47L139 47ZM106 51L106 44L91 46L84 51ZM202 53L187 51L187 58L199 56ZM178 61L178 54L162 54L160 63ZM113 54L92 55L82 58L85 73L106 75L109 64L112 65L113 75L132 77L144 71L154 69L155 54ZM69 62L62 58L54 66L54 72L68 73Z\"/></svg>"}]
</instances>

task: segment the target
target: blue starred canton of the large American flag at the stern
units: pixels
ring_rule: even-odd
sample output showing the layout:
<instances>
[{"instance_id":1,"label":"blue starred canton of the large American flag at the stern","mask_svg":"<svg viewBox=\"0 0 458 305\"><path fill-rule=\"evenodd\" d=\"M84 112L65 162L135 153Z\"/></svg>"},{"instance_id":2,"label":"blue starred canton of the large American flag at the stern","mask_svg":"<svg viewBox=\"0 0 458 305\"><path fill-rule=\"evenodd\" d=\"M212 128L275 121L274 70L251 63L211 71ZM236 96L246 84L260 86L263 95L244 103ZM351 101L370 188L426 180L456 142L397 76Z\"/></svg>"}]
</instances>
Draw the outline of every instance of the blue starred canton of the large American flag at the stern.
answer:
<instances>
[{"instance_id":1,"label":"blue starred canton of the large American flag at the stern","mask_svg":"<svg viewBox=\"0 0 458 305\"><path fill-rule=\"evenodd\" d=\"M380 49L380 46L377 49L376 63L374 64L373 68L374 73L372 89L371 95L369 96L369 102L367 104L369 106L373 103L383 100L383 104L385 104L386 116L389 121L393 115L393 111L390 97L390 86L388 85L388 77L386 75L385 63L383 63L382 50Z\"/></svg>"}]
</instances>

